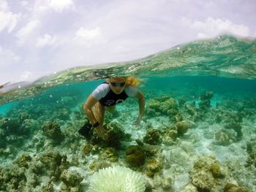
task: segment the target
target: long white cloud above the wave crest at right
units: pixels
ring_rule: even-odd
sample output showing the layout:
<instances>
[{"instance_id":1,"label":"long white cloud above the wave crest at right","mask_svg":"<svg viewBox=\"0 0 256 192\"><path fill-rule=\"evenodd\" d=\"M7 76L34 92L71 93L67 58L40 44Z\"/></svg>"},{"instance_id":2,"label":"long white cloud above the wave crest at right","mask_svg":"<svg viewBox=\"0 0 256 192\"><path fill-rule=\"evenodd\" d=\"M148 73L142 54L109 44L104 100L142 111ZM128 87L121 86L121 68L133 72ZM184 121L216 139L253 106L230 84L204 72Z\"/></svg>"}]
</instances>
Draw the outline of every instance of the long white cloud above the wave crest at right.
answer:
<instances>
[{"instance_id":1,"label":"long white cloud above the wave crest at right","mask_svg":"<svg viewBox=\"0 0 256 192\"><path fill-rule=\"evenodd\" d=\"M209 38L219 34L234 34L241 37L248 37L251 32L247 26L238 25L227 19L214 19L208 17L205 21L183 19L183 23L190 28L197 30L197 37Z\"/></svg>"}]
</instances>

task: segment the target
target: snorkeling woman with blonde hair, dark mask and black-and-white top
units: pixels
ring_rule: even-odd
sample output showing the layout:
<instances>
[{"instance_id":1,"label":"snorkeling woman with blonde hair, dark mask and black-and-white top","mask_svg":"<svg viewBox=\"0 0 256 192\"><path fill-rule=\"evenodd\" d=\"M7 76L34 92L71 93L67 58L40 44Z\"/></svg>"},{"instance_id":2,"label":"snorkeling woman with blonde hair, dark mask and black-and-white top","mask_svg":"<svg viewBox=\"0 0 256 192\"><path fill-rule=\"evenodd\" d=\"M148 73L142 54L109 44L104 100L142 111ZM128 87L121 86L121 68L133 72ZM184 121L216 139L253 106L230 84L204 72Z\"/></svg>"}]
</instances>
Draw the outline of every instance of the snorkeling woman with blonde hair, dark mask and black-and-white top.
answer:
<instances>
[{"instance_id":1,"label":"snorkeling woman with blonde hair, dark mask and black-and-white top","mask_svg":"<svg viewBox=\"0 0 256 192\"><path fill-rule=\"evenodd\" d=\"M139 83L140 80L135 77L108 78L90 94L83 105L83 110L99 137L105 139L105 129L103 128L105 110L113 112L115 105L123 102L128 96L138 99L139 115L133 124L136 126L140 124L145 107L145 98L136 87Z\"/></svg>"}]
</instances>

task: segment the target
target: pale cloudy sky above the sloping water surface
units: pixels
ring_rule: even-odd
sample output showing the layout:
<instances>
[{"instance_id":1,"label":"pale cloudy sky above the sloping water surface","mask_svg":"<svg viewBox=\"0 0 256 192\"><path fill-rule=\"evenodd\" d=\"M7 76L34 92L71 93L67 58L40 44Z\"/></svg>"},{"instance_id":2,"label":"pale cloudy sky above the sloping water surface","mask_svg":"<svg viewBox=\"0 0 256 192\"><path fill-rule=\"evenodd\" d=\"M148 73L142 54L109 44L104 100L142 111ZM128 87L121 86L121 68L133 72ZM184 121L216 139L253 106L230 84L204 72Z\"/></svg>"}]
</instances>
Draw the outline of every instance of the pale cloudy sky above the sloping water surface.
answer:
<instances>
[{"instance_id":1,"label":"pale cloudy sky above the sloping water surface","mask_svg":"<svg viewBox=\"0 0 256 192\"><path fill-rule=\"evenodd\" d=\"M255 10L255 0L0 0L0 85L221 34L255 38Z\"/></svg>"}]
</instances>

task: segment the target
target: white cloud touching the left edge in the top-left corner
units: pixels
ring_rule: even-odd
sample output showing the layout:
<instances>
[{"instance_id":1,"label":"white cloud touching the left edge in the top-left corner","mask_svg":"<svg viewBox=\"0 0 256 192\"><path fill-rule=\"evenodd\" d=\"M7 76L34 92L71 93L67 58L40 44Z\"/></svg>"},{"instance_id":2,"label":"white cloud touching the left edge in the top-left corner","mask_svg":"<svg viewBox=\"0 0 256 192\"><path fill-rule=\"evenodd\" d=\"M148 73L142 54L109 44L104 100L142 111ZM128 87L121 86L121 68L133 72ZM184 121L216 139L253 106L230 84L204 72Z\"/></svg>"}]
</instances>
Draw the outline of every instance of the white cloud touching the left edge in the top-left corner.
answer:
<instances>
[{"instance_id":1,"label":"white cloud touching the left edge in the top-left corner","mask_svg":"<svg viewBox=\"0 0 256 192\"><path fill-rule=\"evenodd\" d=\"M5 28L7 28L8 33L11 33L17 25L19 18L20 15L9 11L9 7L6 1L0 1L0 33Z\"/></svg>"}]
</instances>

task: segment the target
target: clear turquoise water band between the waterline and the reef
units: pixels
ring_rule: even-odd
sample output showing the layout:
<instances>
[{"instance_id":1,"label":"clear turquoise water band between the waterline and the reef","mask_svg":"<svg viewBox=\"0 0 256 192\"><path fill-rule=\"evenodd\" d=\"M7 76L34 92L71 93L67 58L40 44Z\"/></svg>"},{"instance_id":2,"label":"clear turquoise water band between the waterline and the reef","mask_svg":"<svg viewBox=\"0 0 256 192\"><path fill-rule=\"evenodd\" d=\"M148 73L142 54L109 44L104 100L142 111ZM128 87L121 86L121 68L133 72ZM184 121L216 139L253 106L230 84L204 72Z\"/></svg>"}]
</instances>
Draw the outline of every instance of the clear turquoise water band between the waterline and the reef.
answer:
<instances>
[{"instance_id":1,"label":"clear turquoise water band between the waterline and the reef","mask_svg":"<svg viewBox=\"0 0 256 192\"><path fill-rule=\"evenodd\" d=\"M256 80L236 79L216 76L178 76L178 77L145 77L141 76L141 91L146 99L153 99L161 94L167 94L178 99L198 100L200 94L206 91L214 91L214 99L222 99L232 96L234 99L256 98ZM86 101L89 94L94 91L104 80L91 82L79 82L72 85L59 85L49 88L29 99L13 101L1 105L1 115L20 104L54 105L61 103L63 97L75 98L70 106L77 107ZM252 106L253 107L253 106ZM255 106L254 106L255 107Z\"/></svg>"}]
</instances>

